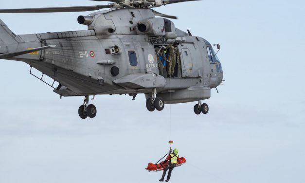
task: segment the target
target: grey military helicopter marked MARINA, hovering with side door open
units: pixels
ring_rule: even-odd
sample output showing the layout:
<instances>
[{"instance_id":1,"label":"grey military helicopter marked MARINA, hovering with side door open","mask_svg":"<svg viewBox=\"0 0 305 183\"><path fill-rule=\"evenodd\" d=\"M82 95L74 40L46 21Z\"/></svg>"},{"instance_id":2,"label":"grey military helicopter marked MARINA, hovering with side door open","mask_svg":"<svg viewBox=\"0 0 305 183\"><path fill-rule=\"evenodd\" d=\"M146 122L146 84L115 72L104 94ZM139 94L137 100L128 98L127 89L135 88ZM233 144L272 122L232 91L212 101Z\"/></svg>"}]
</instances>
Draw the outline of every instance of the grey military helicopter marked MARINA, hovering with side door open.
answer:
<instances>
[{"instance_id":1,"label":"grey military helicopter marked MARINA, hovering with side door open","mask_svg":"<svg viewBox=\"0 0 305 183\"><path fill-rule=\"evenodd\" d=\"M104 1L104 0L95 0ZM0 20L0 59L22 61L30 65L30 73L49 84L62 96L85 96L79 107L83 119L96 116L89 96L97 94L138 93L146 96L149 111L163 110L165 104L198 101L194 112L206 114L211 89L222 84L223 71L213 46L219 44L192 36L175 27L167 18L151 8L191 0L109 0L111 4L54 8L0 9L0 13L80 12L110 8L88 16L79 16L78 23L88 30L14 34ZM160 16L162 18L156 18ZM175 77L168 77L166 67L158 70L156 47L179 41L180 57ZM217 52L218 52L217 51ZM160 50L159 50L160 52ZM42 76L32 73L32 68ZM54 87L54 83L58 86ZM216 88L217 90L217 88ZM217 91L218 92L218 91ZM93 97L94 98L94 97Z\"/></svg>"}]
</instances>

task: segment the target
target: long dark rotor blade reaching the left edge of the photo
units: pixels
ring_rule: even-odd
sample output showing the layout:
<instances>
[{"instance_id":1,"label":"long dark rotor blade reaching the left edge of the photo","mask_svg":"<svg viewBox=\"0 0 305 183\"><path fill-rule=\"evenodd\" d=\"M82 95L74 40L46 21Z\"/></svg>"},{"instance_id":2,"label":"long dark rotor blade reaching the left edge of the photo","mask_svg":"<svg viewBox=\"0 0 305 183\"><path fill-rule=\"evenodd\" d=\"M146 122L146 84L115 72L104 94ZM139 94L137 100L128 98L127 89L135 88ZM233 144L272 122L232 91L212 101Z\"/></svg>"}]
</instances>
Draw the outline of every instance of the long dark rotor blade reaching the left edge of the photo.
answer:
<instances>
[{"instance_id":1,"label":"long dark rotor blade reaching the left edge of the photo","mask_svg":"<svg viewBox=\"0 0 305 183\"><path fill-rule=\"evenodd\" d=\"M103 8L112 8L114 4L97 6L71 6L71 7L50 7L50 8L24 8L24 9L0 9L0 13L55 13L55 12L82 12L94 11Z\"/></svg>"}]
</instances>

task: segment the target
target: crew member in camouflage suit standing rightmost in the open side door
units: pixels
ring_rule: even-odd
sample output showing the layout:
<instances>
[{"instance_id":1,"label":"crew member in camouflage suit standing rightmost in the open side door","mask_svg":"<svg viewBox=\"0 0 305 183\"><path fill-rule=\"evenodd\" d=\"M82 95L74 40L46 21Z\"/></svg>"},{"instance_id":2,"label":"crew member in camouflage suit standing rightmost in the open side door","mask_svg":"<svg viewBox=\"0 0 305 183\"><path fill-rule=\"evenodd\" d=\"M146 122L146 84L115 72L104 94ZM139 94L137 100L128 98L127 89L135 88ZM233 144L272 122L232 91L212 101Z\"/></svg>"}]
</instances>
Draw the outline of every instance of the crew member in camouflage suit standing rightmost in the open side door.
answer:
<instances>
[{"instance_id":1,"label":"crew member in camouflage suit standing rightmost in the open side door","mask_svg":"<svg viewBox=\"0 0 305 183\"><path fill-rule=\"evenodd\" d=\"M168 67L168 75L169 77L175 77L174 76L174 70L177 61L179 60L180 53L179 53L179 48L178 48L179 42L175 41L173 44L170 44L168 46L169 53L168 53L168 58L169 58L169 67Z\"/></svg>"}]
</instances>

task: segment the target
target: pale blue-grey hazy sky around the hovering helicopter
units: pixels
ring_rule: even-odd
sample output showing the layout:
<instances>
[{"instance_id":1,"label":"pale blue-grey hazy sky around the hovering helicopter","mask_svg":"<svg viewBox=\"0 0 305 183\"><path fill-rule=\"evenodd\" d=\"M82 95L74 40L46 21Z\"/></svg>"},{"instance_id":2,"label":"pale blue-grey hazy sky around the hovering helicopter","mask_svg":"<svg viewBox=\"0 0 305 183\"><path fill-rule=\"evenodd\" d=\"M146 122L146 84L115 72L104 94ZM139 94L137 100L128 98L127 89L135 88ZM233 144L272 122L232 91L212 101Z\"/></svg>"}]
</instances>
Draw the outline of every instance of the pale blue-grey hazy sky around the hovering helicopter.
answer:
<instances>
[{"instance_id":1,"label":"pale blue-grey hazy sky around the hovering helicopter","mask_svg":"<svg viewBox=\"0 0 305 183\"><path fill-rule=\"evenodd\" d=\"M0 8L106 4L89 0L11 0ZM172 105L172 140L187 163L172 183L305 182L305 3L202 0L156 8L176 27L211 43L224 85L204 101ZM79 13L1 14L15 34L85 30ZM0 183L157 183L147 172L167 151L170 107L149 112L144 95L99 95L94 119L77 110L21 62L0 60Z\"/></svg>"}]
</instances>

